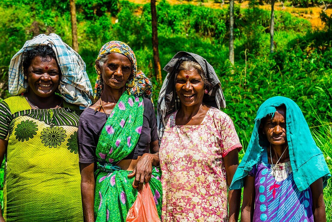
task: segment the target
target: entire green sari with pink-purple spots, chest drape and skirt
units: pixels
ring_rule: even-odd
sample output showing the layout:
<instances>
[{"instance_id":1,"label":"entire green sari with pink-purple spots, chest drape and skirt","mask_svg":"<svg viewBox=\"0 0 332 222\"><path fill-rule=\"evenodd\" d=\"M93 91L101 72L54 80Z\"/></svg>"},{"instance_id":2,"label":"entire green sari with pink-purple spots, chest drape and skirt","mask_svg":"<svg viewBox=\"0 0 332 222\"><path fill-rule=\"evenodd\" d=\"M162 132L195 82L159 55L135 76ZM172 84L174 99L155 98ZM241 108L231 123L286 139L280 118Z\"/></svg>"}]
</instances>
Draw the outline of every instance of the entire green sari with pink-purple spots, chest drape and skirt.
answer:
<instances>
[{"instance_id":1,"label":"entire green sari with pink-purple spots, chest drape and skirt","mask_svg":"<svg viewBox=\"0 0 332 222\"><path fill-rule=\"evenodd\" d=\"M132 171L122 170L115 163L136 146L143 125L143 99L125 91L107 119L96 148L95 218L97 222L123 222L137 197L132 187ZM161 172L153 167L149 182L159 217L161 215Z\"/></svg>"}]
</instances>

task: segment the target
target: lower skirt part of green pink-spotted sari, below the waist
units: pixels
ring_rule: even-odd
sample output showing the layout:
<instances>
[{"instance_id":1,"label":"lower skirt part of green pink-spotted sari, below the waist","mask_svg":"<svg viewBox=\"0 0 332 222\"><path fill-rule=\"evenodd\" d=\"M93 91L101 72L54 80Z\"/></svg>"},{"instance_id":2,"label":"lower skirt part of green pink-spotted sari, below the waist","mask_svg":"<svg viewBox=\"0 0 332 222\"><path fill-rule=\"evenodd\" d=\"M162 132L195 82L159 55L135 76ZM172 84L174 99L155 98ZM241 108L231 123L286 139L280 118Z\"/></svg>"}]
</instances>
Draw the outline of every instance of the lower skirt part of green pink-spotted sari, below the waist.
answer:
<instances>
[{"instance_id":1,"label":"lower skirt part of green pink-spotted sari, below the waist","mask_svg":"<svg viewBox=\"0 0 332 222\"><path fill-rule=\"evenodd\" d=\"M107 164L110 166L111 164ZM98 171L95 187L96 222L126 221L128 211L137 197L137 190L132 187L135 177L128 178L132 171L122 170L118 166L105 167L108 170ZM161 182L160 169L152 168L149 185L157 207L161 214Z\"/></svg>"}]
</instances>

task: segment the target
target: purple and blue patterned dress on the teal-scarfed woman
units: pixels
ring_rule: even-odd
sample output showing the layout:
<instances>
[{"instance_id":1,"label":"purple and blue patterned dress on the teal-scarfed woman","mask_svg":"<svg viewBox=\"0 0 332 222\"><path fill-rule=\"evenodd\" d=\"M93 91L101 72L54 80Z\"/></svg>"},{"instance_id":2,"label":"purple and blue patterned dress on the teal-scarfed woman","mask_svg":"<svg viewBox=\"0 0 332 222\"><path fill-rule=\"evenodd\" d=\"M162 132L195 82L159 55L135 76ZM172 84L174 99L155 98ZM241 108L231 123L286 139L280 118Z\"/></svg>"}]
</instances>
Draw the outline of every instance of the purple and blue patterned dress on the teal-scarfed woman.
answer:
<instances>
[{"instance_id":1,"label":"purple and blue patterned dress on the teal-scarfed woman","mask_svg":"<svg viewBox=\"0 0 332 222\"><path fill-rule=\"evenodd\" d=\"M310 187L299 191L293 179L290 162L276 165L273 177L267 149L261 161L249 173L255 176L254 222L314 222Z\"/></svg>"}]
</instances>

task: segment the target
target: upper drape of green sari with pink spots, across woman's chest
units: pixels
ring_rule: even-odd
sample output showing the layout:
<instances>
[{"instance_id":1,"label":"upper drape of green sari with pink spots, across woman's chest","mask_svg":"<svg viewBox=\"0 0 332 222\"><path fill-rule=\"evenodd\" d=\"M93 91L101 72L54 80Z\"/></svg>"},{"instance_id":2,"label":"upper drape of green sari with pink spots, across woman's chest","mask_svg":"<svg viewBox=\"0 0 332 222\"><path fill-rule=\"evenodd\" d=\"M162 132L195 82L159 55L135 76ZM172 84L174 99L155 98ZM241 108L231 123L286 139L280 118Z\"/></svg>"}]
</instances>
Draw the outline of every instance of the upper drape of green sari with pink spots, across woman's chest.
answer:
<instances>
[{"instance_id":1,"label":"upper drape of green sari with pink spots, across woman's chest","mask_svg":"<svg viewBox=\"0 0 332 222\"><path fill-rule=\"evenodd\" d=\"M122 94L100 134L97 161L116 162L133 150L142 131L143 111L142 97Z\"/></svg>"}]
</instances>

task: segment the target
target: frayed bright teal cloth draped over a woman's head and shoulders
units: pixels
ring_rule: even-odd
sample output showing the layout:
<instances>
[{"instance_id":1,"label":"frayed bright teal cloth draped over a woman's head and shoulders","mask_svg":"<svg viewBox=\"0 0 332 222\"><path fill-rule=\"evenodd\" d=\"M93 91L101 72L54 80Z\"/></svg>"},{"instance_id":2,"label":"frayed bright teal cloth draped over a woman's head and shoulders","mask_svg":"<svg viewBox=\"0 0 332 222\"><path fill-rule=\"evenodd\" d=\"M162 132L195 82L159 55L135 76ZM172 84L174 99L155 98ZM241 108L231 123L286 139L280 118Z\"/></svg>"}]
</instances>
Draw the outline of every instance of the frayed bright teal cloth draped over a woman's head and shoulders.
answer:
<instances>
[{"instance_id":1,"label":"frayed bright teal cloth draped over a woman's head and shoulders","mask_svg":"<svg viewBox=\"0 0 332 222\"><path fill-rule=\"evenodd\" d=\"M286 97L272 97L266 100L258 109L255 118L254 130L247 151L236 169L230 189L241 189L244 178L253 166L258 163L263 149L270 144L267 139L258 134L262 118L274 115L276 107L286 106L286 137L289 146L290 164L293 170L297 188L305 190L314 181L323 177L323 187L331 177L323 153L312 138L303 113L294 101Z\"/></svg>"}]
</instances>

